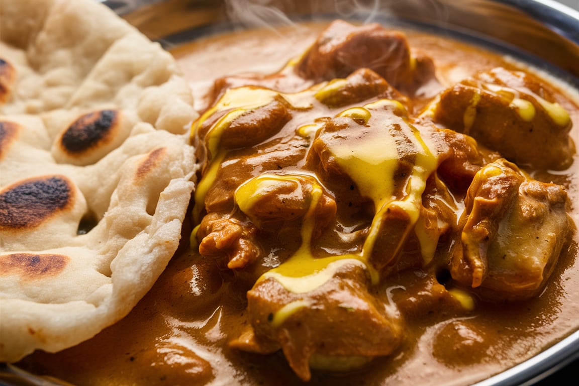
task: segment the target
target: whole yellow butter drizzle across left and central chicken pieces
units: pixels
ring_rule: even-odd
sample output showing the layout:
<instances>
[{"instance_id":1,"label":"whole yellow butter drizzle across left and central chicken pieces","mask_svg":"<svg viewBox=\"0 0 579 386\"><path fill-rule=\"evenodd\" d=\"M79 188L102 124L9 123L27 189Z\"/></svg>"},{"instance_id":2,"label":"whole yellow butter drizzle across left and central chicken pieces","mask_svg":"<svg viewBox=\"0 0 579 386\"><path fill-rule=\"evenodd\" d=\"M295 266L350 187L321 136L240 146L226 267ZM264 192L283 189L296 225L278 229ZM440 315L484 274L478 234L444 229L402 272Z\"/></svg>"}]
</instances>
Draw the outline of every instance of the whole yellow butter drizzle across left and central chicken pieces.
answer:
<instances>
[{"instance_id":1,"label":"whole yellow butter drizzle across left and central chicken pieces","mask_svg":"<svg viewBox=\"0 0 579 386\"><path fill-rule=\"evenodd\" d=\"M225 109L231 110L219 119L207 133L208 138L206 144L211 159L209 160L208 171L203 178L201 178L199 187L195 193L195 207L193 209L195 222L199 223L200 221L202 204L204 203L208 190L217 177L219 165L227 153L226 150L219 149L221 136L234 119L242 115L245 111L264 106L272 102L274 98L279 97L284 98L288 104L296 109L309 109L312 108L312 91L314 91L314 93L328 92L328 90L334 89L340 84L340 82L336 81L327 87L328 83L322 83L314 86L312 89L295 94L283 94L269 89L250 86L228 90L222 99L204 113L192 126L191 135L197 135L200 125L212 114ZM310 100L307 99L307 95L310 95ZM290 292L307 293L314 291L334 277L340 267L345 264L358 264L367 270L372 284L378 284L380 273L369 263L369 256L380 235L385 214L394 205L403 209L411 218L412 227L415 227L415 233L419 239L423 253L428 253L428 255L434 253L438 240L429 237L420 226L416 226L420 218L422 194L426 187L426 179L435 171L438 163L437 157L430 150L434 149L434 146L427 144L419 131L408 122L406 119L406 110L398 101L380 100L363 107L346 109L336 116L350 117L356 123L368 126L368 121L372 117L372 110L379 109L390 109L393 120L404 128L404 134L408 136L408 139L412 143L413 151L416 152L415 164L406 182L403 197L394 196L394 172L398 165L399 153L395 138L386 128L383 128L383 130L373 128L372 131L368 131L368 133L371 134L360 137L360 140L356 141L355 148L351 146L351 141L347 141L347 138L345 141L334 142L330 151L334 153L339 166L353 178L362 195L371 198L377 210L360 253L316 258L312 253L311 242L316 225L316 206L324 192L324 188L317 180L316 175L310 174L309 172L298 172L294 175L265 174L245 182L234 194L234 200L243 212L250 212L249 209L256 202L256 199L267 193L272 179L285 179L299 184L299 178L296 176L308 175L314 177L317 182L312 186L309 208L303 216L301 246L287 261L267 271L257 282L265 280L266 278L274 278L274 280L280 282L280 284ZM320 127L321 125L316 123L301 126L298 128L296 134L302 137L309 136L314 130L317 131ZM267 182L268 179L270 182ZM196 238L196 229L192 233L192 240ZM410 230L411 227L409 227L408 231ZM192 243L192 245L196 245L196 243ZM424 261L427 262L430 258L431 256L424 256ZM307 304L301 300L298 300L297 303L292 302L287 304L286 307L278 310L278 313L274 315L273 321L281 324L288 316L302 307L307 307Z\"/></svg>"}]
</instances>

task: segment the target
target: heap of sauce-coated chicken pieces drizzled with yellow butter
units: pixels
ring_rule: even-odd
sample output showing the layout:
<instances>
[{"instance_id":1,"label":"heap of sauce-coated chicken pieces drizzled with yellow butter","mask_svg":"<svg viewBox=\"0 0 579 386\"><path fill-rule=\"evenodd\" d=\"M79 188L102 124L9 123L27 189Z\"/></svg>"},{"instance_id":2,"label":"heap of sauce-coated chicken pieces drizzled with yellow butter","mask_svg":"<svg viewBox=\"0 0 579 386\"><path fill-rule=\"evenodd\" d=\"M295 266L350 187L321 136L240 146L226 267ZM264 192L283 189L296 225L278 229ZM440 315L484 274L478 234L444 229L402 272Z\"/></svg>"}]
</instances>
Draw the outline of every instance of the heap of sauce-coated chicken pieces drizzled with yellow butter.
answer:
<instances>
[{"instance_id":1,"label":"heap of sauce-coated chicken pieces drizzled with yellow butter","mask_svg":"<svg viewBox=\"0 0 579 386\"><path fill-rule=\"evenodd\" d=\"M422 309L543 289L574 225L565 188L524 167L570 166L569 115L530 73L482 72L419 109L427 83L404 35L342 21L280 73L215 83L192 129L192 245L255 283L232 347L281 350L307 381L391 354ZM428 292L376 293L403 272Z\"/></svg>"}]
</instances>

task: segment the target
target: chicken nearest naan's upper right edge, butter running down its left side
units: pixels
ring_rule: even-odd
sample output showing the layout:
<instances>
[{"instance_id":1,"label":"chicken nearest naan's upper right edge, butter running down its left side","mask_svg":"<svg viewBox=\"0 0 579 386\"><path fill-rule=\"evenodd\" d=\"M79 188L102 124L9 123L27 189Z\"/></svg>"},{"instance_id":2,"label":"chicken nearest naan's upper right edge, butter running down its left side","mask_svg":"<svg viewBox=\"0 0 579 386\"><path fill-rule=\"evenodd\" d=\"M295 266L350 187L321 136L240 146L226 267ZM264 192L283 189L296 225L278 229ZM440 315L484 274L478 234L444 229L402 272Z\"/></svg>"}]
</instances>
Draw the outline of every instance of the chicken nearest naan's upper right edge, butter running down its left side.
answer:
<instances>
[{"instance_id":1,"label":"chicken nearest naan's upper right edge, butter running down its left side","mask_svg":"<svg viewBox=\"0 0 579 386\"><path fill-rule=\"evenodd\" d=\"M303 146L280 143L279 132L291 120L291 111L276 91L244 87L229 90L193 124L192 142L201 165L196 223L205 212L232 210L234 190L253 177L257 165L277 169L302 159Z\"/></svg>"}]
</instances>

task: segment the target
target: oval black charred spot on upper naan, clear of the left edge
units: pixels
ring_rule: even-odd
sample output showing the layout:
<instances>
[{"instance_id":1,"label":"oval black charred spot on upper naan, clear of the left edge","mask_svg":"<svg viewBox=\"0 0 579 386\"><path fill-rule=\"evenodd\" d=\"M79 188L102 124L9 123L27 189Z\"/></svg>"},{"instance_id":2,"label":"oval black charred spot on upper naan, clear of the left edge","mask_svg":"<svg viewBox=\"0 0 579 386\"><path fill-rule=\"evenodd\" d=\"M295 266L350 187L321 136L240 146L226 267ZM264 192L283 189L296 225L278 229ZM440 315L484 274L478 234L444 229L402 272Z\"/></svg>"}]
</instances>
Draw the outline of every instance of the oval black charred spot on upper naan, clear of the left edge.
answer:
<instances>
[{"instance_id":1,"label":"oval black charred spot on upper naan, clear of the left edge","mask_svg":"<svg viewBox=\"0 0 579 386\"><path fill-rule=\"evenodd\" d=\"M73 122L60 137L60 147L69 155L87 151L112 141L119 131L120 113L101 110L86 113Z\"/></svg>"}]
</instances>

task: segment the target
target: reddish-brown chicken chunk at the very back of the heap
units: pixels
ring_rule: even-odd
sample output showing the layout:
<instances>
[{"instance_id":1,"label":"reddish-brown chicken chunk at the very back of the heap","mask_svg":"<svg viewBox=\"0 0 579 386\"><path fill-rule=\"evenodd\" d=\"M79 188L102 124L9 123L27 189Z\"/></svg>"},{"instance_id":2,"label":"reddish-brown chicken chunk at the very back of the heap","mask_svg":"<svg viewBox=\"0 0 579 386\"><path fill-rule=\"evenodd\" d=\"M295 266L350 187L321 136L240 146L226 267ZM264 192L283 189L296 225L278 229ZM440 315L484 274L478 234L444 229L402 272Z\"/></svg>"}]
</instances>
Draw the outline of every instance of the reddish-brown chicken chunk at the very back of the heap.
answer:
<instances>
[{"instance_id":1,"label":"reddish-brown chicken chunk at the very back of the heap","mask_svg":"<svg viewBox=\"0 0 579 386\"><path fill-rule=\"evenodd\" d=\"M406 36L378 23L355 27L336 20L295 65L295 72L315 82L346 78L360 68L378 73L392 86L413 92L434 79L427 57L412 57Z\"/></svg>"}]
</instances>

